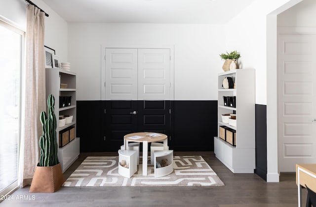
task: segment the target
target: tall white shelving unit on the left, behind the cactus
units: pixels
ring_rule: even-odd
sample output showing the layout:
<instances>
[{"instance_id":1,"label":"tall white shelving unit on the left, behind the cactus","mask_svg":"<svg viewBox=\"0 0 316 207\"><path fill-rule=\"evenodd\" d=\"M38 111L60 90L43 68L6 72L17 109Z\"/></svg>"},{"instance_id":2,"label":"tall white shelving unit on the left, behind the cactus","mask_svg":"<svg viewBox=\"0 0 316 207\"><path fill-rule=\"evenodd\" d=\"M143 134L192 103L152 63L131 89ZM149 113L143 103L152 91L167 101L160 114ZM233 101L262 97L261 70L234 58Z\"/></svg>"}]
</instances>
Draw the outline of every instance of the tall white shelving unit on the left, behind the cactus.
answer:
<instances>
[{"instance_id":1,"label":"tall white shelving unit on the left, behind the cactus","mask_svg":"<svg viewBox=\"0 0 316 207\"><path fill-rule=\"evenodd\" d=\"M60 88L60 83L67 84L66 89ZM59 132L70 126L75 127L75 139L64 147L58 149L58 159L65 172L71 164L79 156L80 139L76 136L76 73L59 69L59 68L46 68L46 100L49 94L55 97L55 116L57 119L57 142L59 144ZM71 104L67 107L59 107L59 96L71 96ZM47 105L47 103L46 103ZM58 119L60 115L72 115L73 121L65 126L59 127Z\"/></svg>"}]
</instances>

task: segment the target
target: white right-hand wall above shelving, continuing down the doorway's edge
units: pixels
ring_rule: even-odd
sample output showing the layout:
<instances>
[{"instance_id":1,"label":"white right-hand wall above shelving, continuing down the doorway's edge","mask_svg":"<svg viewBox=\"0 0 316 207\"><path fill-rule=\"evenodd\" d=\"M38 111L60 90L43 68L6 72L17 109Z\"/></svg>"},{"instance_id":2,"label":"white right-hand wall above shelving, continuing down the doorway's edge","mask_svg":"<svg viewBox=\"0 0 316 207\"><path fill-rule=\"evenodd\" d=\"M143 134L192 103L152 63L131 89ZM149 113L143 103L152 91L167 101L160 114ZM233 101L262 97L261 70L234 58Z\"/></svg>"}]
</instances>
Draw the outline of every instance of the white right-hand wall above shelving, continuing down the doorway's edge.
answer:
<instances>
[{"instance_id":1,"label":"white right-hand wall above shelving, continuing down the doorway's edge","mask_svg":"<svg viewBox=\"0 0 316 207\"><path fill-rule=\"evenodd\" d=\"M276 15L301 0L256 0L227 24L227 48L256 69L256 104L267 105L267 181L279 181L277 164ZM232 32L235 31L235 32ZM257 155L260 156L260 155Z\"/></svg>"}]
</instances>

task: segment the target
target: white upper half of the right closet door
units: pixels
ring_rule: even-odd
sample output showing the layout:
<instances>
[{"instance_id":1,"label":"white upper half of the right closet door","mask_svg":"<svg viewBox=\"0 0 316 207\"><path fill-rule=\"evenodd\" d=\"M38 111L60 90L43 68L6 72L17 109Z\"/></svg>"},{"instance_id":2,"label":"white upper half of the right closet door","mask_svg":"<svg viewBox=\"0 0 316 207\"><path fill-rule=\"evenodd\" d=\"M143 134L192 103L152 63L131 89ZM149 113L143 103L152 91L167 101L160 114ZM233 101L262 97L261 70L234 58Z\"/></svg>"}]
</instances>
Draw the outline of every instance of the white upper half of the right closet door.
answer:
<instances>
[{"instance_id":1,"label":"white upper half of the right closet door","mask_svg":"<svg viewBox=\"0 0 316 207\"><path fill-rule=\"evenodd\" d=\"M138 100L170 100L170 49L138 49Z\"/></svg>"}]
</instances>

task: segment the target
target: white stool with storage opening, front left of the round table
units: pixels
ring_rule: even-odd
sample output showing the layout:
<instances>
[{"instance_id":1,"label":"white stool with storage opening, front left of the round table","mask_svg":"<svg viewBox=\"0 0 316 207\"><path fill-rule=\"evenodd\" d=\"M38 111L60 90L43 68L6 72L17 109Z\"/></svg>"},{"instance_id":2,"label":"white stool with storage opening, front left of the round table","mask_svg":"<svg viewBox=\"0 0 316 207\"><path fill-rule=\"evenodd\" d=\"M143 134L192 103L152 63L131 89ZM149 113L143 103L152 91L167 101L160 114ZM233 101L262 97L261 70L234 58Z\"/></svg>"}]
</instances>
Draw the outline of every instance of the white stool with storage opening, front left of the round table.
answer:
<instances>
[{"instance_id":1,"label":"white stool with storage opening, front left of the round table","mask_svg":"<svg viewBox=\"0 0 316 207\"><path fill-rule=\"evenodd\" d=\"M132 177L137 172L136 151L134 150L118 150L118 174L123 177ZM124 166L122 166L124 163Z\"/></svg>"}]
</instances>

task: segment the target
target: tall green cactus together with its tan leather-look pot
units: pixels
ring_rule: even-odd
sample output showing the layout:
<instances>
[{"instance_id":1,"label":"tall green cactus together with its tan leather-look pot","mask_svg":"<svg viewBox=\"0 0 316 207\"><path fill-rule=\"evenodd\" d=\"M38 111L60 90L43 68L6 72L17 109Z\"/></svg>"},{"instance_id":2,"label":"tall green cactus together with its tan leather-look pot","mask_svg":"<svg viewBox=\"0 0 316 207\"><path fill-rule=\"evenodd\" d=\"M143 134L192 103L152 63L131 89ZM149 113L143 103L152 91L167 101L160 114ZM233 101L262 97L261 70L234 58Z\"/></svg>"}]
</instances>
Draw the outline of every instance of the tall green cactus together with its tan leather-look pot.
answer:
<instances>
[{"instance_id":1,"label":"tall green cactus together with its tan leather-look pot","mask_svg":"<svg viewBox=\"0 0 316 207\"><path fill-rule=\"evenodd\" d=\"M40 113L40 123L42 124L42 135L39 141L40 162L33 176L30 187L31 193L56 192L65 181L57 156L57 122L54 104L55 98L50 94L47 99L48 116L45 112Z\"/></svg>"}]
</instances>

